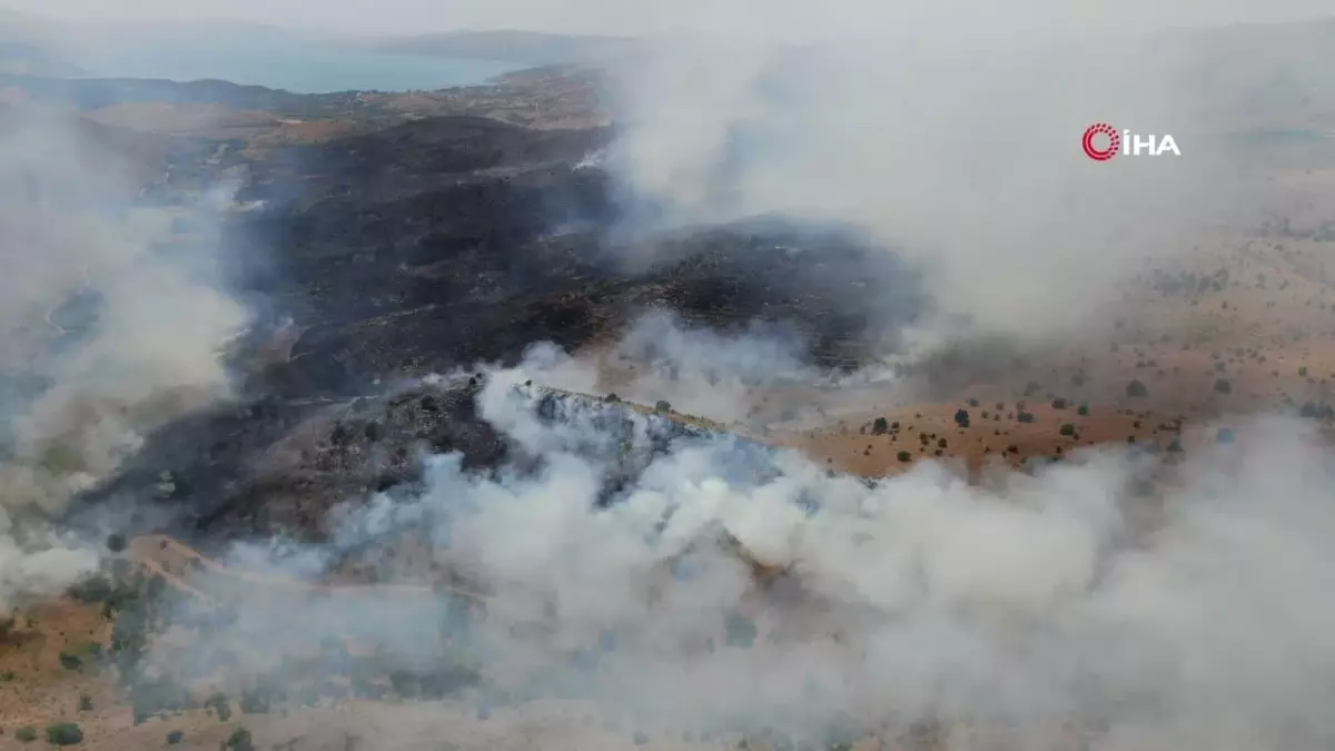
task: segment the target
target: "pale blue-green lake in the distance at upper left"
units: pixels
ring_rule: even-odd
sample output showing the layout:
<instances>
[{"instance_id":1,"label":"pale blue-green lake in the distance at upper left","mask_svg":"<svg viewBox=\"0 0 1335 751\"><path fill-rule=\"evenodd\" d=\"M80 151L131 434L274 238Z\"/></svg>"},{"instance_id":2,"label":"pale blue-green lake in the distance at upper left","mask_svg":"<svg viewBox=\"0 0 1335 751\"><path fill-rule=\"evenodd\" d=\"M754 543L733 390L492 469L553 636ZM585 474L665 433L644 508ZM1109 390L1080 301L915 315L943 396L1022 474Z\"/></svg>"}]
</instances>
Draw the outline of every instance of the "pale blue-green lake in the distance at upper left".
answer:
<instances>
[{"instance_id":1,"label":"pale blue-green lake in the distance at upper left","mask_svg":"<svg viewBox=\"0 0 1335 751\"><path fill-rule=\"evenodd\" d=\"M220 79L298 94L473 86L530 67L503 60L380 55L326 44L274 40L136 44L101 49L95 57L79 60L79 64L99 78L179 82Z\"/></svg>"}]
</instances>

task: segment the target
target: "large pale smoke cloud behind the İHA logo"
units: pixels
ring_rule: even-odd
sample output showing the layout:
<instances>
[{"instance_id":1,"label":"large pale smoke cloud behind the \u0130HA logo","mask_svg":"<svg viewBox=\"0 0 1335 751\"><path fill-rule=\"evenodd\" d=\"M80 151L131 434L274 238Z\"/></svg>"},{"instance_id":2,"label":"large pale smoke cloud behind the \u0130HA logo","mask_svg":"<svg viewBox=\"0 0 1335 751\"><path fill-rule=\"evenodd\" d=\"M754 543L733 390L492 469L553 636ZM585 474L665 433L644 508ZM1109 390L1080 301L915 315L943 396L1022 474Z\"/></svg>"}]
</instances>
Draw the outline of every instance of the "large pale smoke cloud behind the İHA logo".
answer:
<instances>
[{"instance_id":1,"label":"large pale smoke cloud behind the \u0130HA logo","mask_svg":"<svg viewBox=\"0 0 1335 751\"><path fill-rule=\"evenodd\" d=\"M860 32L813 31L816 44L768 35L758 7L749 28L650 43L613 71L623 128L607 166L655 223L846 224L926 263L944 310L1037 338L1088 326L1117 281L1244 216L1214 138L1227 123L1195 76L1210 55L1199 40L1085 40L1109 11L1097 5L1056 19L1008 3L1000 25L1032 24L1011 39L973 28L987 24L971 4L952 7L955 25L925 4L866 5ZM913 8L941 21L934 32L892 20ZM708 28L708 13L692 20ZM1183 155L1096 163L1080 148L1096 122L1172 134Z\"/></svg>"}]
</instances>

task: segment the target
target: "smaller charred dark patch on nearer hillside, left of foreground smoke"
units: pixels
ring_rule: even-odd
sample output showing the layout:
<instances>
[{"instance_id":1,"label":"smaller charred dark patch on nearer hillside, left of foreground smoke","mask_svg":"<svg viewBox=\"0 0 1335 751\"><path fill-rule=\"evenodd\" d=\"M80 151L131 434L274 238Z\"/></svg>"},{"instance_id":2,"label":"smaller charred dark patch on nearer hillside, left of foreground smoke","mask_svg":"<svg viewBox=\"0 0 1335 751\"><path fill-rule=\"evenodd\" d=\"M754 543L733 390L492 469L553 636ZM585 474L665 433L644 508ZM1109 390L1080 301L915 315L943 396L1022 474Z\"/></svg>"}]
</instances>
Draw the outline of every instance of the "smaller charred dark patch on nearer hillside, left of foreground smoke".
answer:
<instances>
[{"instance_id":1,"label":"smaller charred dark patch on nearer hillside, left of foreground smoke","mask_svg":"<svg viewBox=\"0 0 1335 751\"><path fill-rule=\"evenodd\" d=\"M212 543L279 532L324 539L326 512L421 477L427 453L463 454L465 470L499 466L509 446L477 414L481 381L419 384L351 400L264 400L182 420L87 496L84 513L143 532L158 508L172 533ZM167 482L163 482L163 480ZM105 521L104 521L105 522Z\"/></svg>"}]
</instances>

